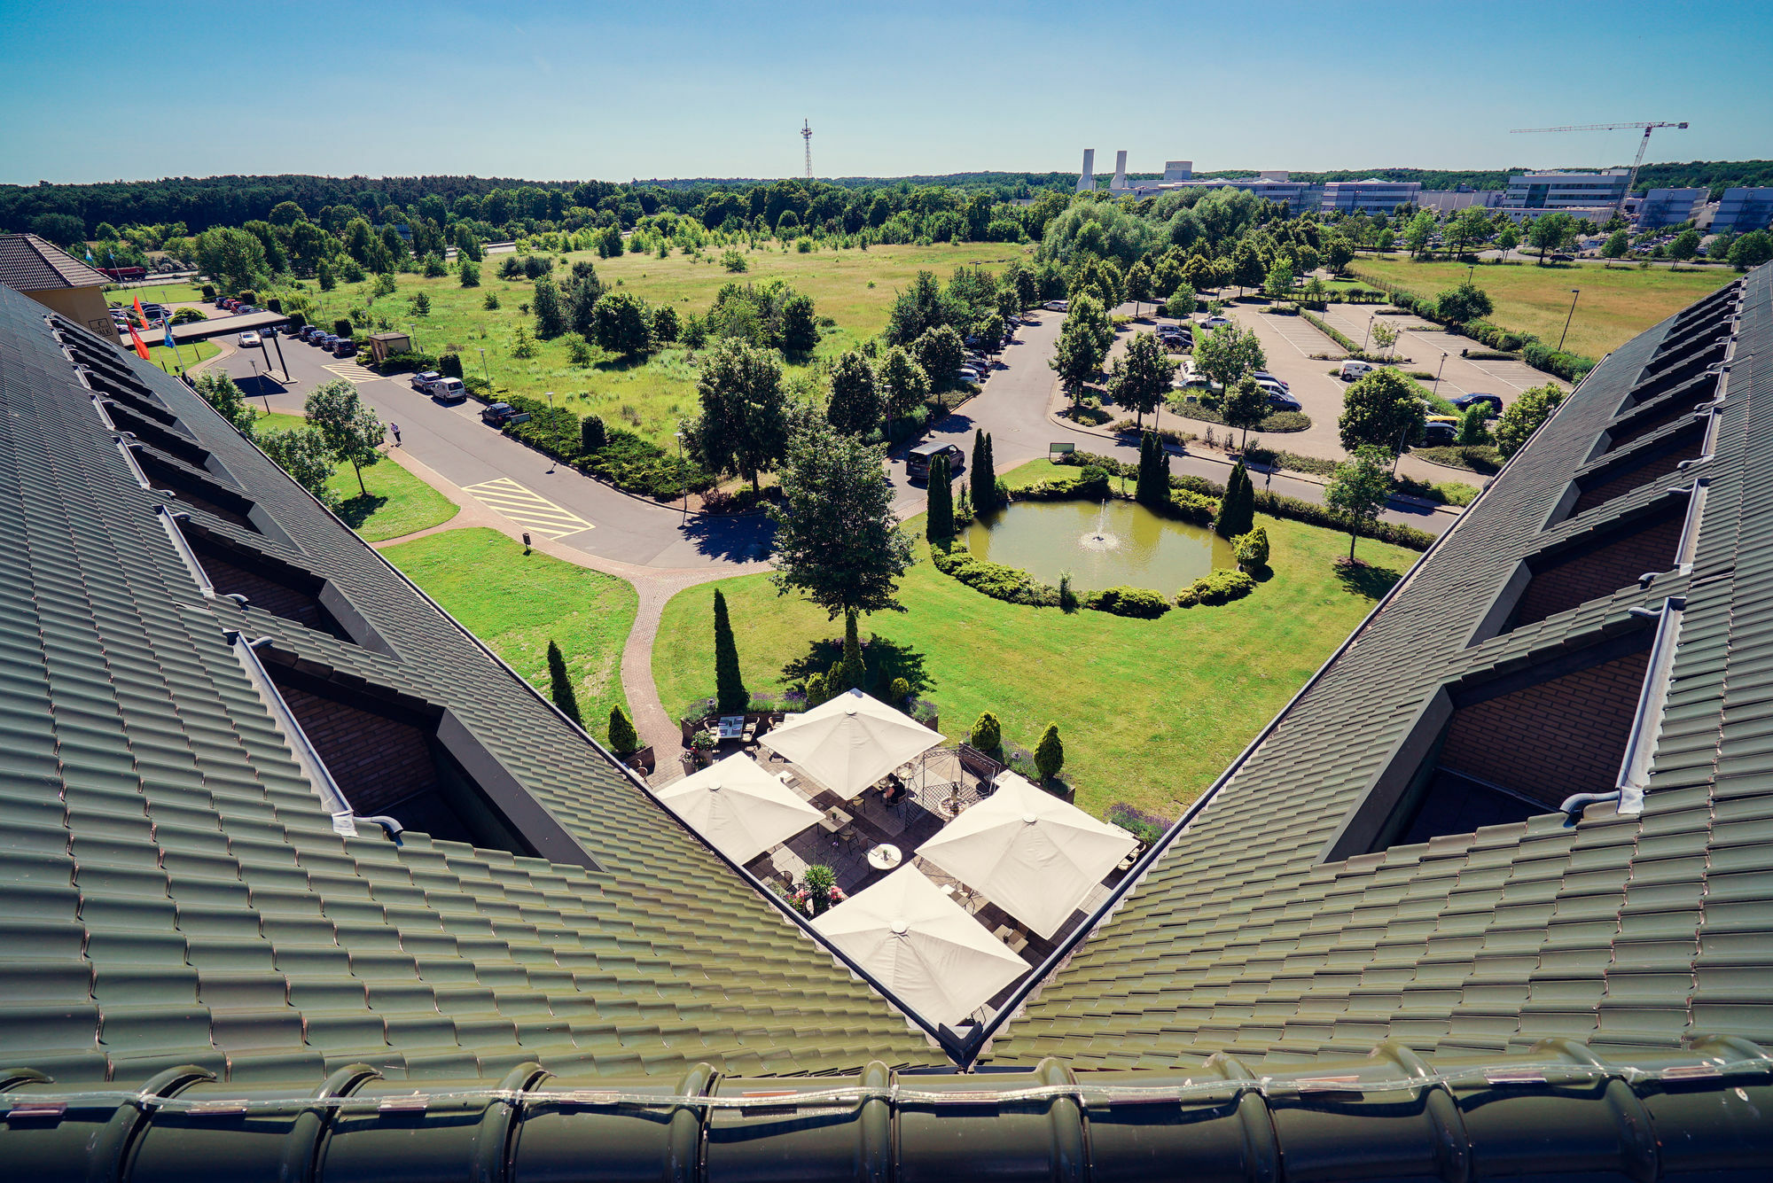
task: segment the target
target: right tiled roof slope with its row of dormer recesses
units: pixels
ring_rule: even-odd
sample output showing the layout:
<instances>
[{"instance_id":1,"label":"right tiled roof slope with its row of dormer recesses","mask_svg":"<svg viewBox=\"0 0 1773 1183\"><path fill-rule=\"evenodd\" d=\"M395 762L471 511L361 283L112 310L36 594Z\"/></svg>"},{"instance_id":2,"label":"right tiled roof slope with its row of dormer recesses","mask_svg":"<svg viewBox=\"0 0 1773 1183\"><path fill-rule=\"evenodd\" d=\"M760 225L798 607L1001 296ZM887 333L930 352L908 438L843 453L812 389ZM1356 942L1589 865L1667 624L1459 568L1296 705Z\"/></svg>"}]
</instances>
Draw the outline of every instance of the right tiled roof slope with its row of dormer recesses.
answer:
<instances>
[{"instance_id":1,"label":"right tiled roof slope with its row of dormer recesses","mask_svg":"<svg viewBox=\"0 0 1773 1183\"><path fill-rule=\"evenodd\" d=\"M1681 414L1628 439L1714 381L1704 367L1723 361L1732 319L1709 457L1560 517L1573 478L1605 480L1700 437L1706 420ZM1672 363L1699 379L1663 390ZM1636 1047L1773 1034L1773 990L1743 990L1773 962L1773 738L1752 723L1773 701L1769 418L1762 267L1582 383L998 1036L996 1055L1131 1068L1183 1048L1289 1057L1385 1038L1504 1052L1546 1036ZM1613 452L1610 429L1628 439ZM1695 480L1707 496L1690 570L1468 645L1523 560ZM1599 806L1566 825L1546 813L1326 857L1440 687L1597 641L1670 597L1686 611L1642 815Z\"/></svg>"}]
</instances>

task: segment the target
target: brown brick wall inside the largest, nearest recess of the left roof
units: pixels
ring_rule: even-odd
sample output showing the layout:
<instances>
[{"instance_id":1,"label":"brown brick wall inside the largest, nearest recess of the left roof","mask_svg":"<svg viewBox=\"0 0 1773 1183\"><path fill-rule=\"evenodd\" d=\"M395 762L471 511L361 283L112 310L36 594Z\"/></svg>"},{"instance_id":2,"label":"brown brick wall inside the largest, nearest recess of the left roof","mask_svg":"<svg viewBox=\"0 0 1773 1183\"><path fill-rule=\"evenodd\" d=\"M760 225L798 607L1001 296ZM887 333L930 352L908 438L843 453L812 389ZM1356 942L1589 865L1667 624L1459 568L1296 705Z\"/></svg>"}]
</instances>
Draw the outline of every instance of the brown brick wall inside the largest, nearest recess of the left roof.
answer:
<instances>
[{"instance_id":1,"label":"brown brick wall inside the largest, nearest recess of the left roof","mask_svg":"<svg viewBox=\"0 0 1773 1183\"><path fill-rule=\"evenodd\" d=\"M431 746L418 728L282 682L277 689L358 815L385 813L436 788Z\"/></svg>"}]
</instances>

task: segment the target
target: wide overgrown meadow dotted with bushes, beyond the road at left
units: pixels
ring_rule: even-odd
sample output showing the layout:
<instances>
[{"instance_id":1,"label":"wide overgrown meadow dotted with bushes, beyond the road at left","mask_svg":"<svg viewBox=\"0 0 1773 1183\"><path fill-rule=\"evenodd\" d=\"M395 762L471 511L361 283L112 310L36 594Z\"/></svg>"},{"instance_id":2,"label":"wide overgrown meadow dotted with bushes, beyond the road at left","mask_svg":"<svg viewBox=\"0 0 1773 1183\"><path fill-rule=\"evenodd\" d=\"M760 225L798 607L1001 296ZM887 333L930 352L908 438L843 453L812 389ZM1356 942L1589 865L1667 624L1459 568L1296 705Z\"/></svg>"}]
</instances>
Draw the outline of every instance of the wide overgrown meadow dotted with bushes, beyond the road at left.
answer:
<instances>
[{"instance_id":1,"label":"wide overgrown meadow dotted with bushes, beyond the road at left","mask_svg":"<svg viewBox=\"0 0 1773 1183\"><path fill-rule=\"evenodd\" d=\"M720 248L704 250L700 257L674 253L622 255L598 259L596 251L574 251L555 259L555 278L571 273L573 262L585 259L598 267L605 285L621 283L654 305L674 305L679 319L702 315L715 294L725 283L761 283L782 278L796 290L812 298L816 313L837 321L824 329L816 358L833 356L860 340L874 336L886 326L899 289L908 287L920 269L934 271L947 280L954 267L979 262L998 271L1025 248L1004 243L963 243L940 246L874 246L871 250L812 251L801 255L778 244L745 251L750 269L743 274L720 266ZM418 349L429 354L457 352L468 374L486 374L500 393L543 397L555 391L557 400L580 414L596 411L612 425L628 427L654 443L667 446L677 421L695 413L695 367L684 351L668 349L640 365L605 361L573 365L567 345L560 340L534 342L532 358L511 354L516 328L523 324L532 333L535 317L521 310L530 301L534 283L528 280L496 278L498 264L507 255L493 255L480 264L480 287L461 287L456 274L426 280L417 274L397 276L394 296L371 299L372 280L340 283L332 292L319 292L310 280L305 294L319 299L316 317L323 324L344 317L351 308L385 315L399 329L410 329ZM431 299L429 315L411 313L411 298L426 292ZM498 296L496 310L484 308L488 292ZM486 351L484 361L480 351ZM805 367L789 367L789 379Z\"/></svg>"}]
</instances>

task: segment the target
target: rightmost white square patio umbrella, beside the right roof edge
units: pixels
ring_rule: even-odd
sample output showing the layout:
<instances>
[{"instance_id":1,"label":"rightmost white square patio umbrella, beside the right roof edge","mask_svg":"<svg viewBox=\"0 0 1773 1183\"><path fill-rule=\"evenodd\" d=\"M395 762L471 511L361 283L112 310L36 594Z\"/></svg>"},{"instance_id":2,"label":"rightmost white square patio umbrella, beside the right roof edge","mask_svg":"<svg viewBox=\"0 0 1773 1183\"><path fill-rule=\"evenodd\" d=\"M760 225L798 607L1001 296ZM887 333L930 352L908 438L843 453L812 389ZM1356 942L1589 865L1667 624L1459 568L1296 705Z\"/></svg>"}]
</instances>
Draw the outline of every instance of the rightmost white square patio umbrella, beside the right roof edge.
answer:
<instances>
[{"instance_id":1,"label":"rightmost white square patio umbrella, beside the right roof edge","mask_svg":"<svg viewBox=\"0 0 1773 1183\"><path fill-rule=\"evenodd\" d=\"M917 852L1051 937L1138 839L1014 772L996 785Z\"/></svg>"}]
</instances>

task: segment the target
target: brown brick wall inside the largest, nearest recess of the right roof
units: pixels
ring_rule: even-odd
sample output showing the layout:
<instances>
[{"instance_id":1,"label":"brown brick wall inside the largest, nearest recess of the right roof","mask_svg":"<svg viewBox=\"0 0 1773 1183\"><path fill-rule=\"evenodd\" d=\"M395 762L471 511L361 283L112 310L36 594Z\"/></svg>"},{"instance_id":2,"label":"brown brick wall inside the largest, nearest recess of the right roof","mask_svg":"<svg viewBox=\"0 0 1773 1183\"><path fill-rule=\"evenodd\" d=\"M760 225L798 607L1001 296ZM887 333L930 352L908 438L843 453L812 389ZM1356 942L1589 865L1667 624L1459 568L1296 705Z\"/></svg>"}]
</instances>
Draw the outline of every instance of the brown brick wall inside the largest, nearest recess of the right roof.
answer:
<instances>
[{"instance_id":1,"label":"brown brick wall inside the largest, nearest recess of the right roof","mask_svg":"<svg viewBox=\"0 0 1773 1183\"><path fill-rule=\"evenodd\" d=\"M1555 809L1619 779L1649 650L1454 712L1440 767Z\"/></svg>"}]
</instances>

